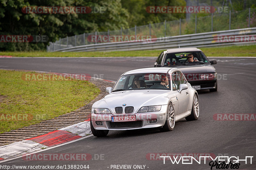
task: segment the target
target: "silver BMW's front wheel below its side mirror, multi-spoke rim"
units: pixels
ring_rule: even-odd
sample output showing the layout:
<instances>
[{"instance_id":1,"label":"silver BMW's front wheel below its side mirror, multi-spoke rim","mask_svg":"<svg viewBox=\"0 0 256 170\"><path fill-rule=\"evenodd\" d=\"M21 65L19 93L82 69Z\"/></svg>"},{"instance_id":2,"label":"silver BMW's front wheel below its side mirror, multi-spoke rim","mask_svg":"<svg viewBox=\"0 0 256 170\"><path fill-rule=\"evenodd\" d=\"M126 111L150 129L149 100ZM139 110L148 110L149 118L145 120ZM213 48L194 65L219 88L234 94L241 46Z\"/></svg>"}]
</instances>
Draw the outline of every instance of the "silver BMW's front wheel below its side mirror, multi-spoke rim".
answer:
<instances>
[{"instance_id":1,"label":"silver BMW's front wheel below its side mirror, multi-spoke rim","mask_svg":"<svg viewBox=\"0 0 256 170\"><path fill-rule=\"evenodd\" d=\"M174 129L174 126L175 126L175 112L174 112L172 103L169 103L167 107L166 120L165 120L164 126L159 130L161 132L172 131Z\"/></svg>"}]
</instances>

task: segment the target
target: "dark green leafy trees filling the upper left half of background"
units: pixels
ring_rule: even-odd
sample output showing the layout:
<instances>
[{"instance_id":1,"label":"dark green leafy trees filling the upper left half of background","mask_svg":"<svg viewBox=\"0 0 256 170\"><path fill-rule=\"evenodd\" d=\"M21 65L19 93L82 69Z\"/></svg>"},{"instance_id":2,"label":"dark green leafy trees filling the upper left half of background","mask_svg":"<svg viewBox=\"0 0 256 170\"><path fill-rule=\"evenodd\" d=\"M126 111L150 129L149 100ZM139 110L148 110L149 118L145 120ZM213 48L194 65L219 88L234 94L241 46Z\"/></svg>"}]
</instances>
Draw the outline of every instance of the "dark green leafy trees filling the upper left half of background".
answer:
<instances>
[{"instance_id":1,"label":"dark green leafy trees filling the upper left half of background","mask_svg":"<svg viewBox=\"0 0 256 170\"><path fill-rule=\"evenodd\" d=\"M26 6L102 7L104 13L22 13ZM4 0L0 2L1 35L47 35L49 41L75 34L128 27L128 12L120 0ZM1 42L1 51L45 50L49 43Z\"/></svg>"}]
</instances>

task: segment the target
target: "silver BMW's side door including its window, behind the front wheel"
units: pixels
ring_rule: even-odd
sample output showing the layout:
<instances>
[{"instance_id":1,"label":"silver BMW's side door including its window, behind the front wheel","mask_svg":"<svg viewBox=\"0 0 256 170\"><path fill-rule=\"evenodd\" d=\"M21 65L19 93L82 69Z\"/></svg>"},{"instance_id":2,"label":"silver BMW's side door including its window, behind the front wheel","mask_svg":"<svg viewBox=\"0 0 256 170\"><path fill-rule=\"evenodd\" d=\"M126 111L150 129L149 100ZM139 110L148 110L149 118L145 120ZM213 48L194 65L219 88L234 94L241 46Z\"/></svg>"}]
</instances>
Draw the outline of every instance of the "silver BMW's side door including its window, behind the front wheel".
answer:
<instances>
[{"instance_id":1,"label":"silver BMW's side door including its window, behind the front wheel","mask_svg":"<svg viewBox=\"0 0 256 170\"><path fill-rule=\"evenodd\" d=\"M178 102L179 102L179 110L178 115L186 112L188 110L188 103L189 103L189 93L188 89L182 90L179 93L180 84L187 83L186 79L183 77L180 71L174 71L172 73L172 90L175 91Z\"/></svg>"}]
</instances>

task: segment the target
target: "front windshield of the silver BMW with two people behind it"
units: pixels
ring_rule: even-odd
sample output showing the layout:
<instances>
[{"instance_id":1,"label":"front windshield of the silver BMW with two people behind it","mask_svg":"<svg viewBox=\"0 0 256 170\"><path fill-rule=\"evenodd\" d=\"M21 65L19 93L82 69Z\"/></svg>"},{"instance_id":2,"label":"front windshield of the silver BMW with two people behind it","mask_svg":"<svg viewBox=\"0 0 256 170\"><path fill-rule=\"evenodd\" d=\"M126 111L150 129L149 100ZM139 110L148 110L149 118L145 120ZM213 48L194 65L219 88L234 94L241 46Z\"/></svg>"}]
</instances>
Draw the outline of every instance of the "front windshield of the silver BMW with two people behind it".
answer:
<instances>
[{"instance_id":1,"label":"front windshield of the silver BMW with two people behind it","mask_svg":"<svg viewBox=\"0 0 256 170\"><path fill-rule=\"evenodd\" d=\"M166 73L129 74L117 80L112 92L143 89L170 90L169 84L170 75Z\"/></svg>"}]
</instances>

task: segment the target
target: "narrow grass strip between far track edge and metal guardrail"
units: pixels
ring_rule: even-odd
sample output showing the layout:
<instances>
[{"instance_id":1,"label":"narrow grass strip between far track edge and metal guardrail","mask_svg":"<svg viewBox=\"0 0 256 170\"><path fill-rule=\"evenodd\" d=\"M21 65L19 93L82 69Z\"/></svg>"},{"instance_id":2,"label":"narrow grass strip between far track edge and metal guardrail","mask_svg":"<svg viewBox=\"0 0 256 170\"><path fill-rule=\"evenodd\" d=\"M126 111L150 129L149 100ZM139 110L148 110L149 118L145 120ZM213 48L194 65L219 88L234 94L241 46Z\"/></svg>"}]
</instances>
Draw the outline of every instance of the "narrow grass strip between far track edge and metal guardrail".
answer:
<instances>
[{"instance_id":1,"label":"narrow grass strip between far track edge and metal guardrail","mask_svg":"<svg viewBox=\"0 0 256 170\"><path fill-rule=\"evenodd\" d=\"M206 56L253 56L256 45L200 48ZM165 49L163 49L165 50ZM112 51L112 52L0 52L0 55L15 57L116 57L116 56L157 56L163 50Z\"/></svg>"}]
</instances>

